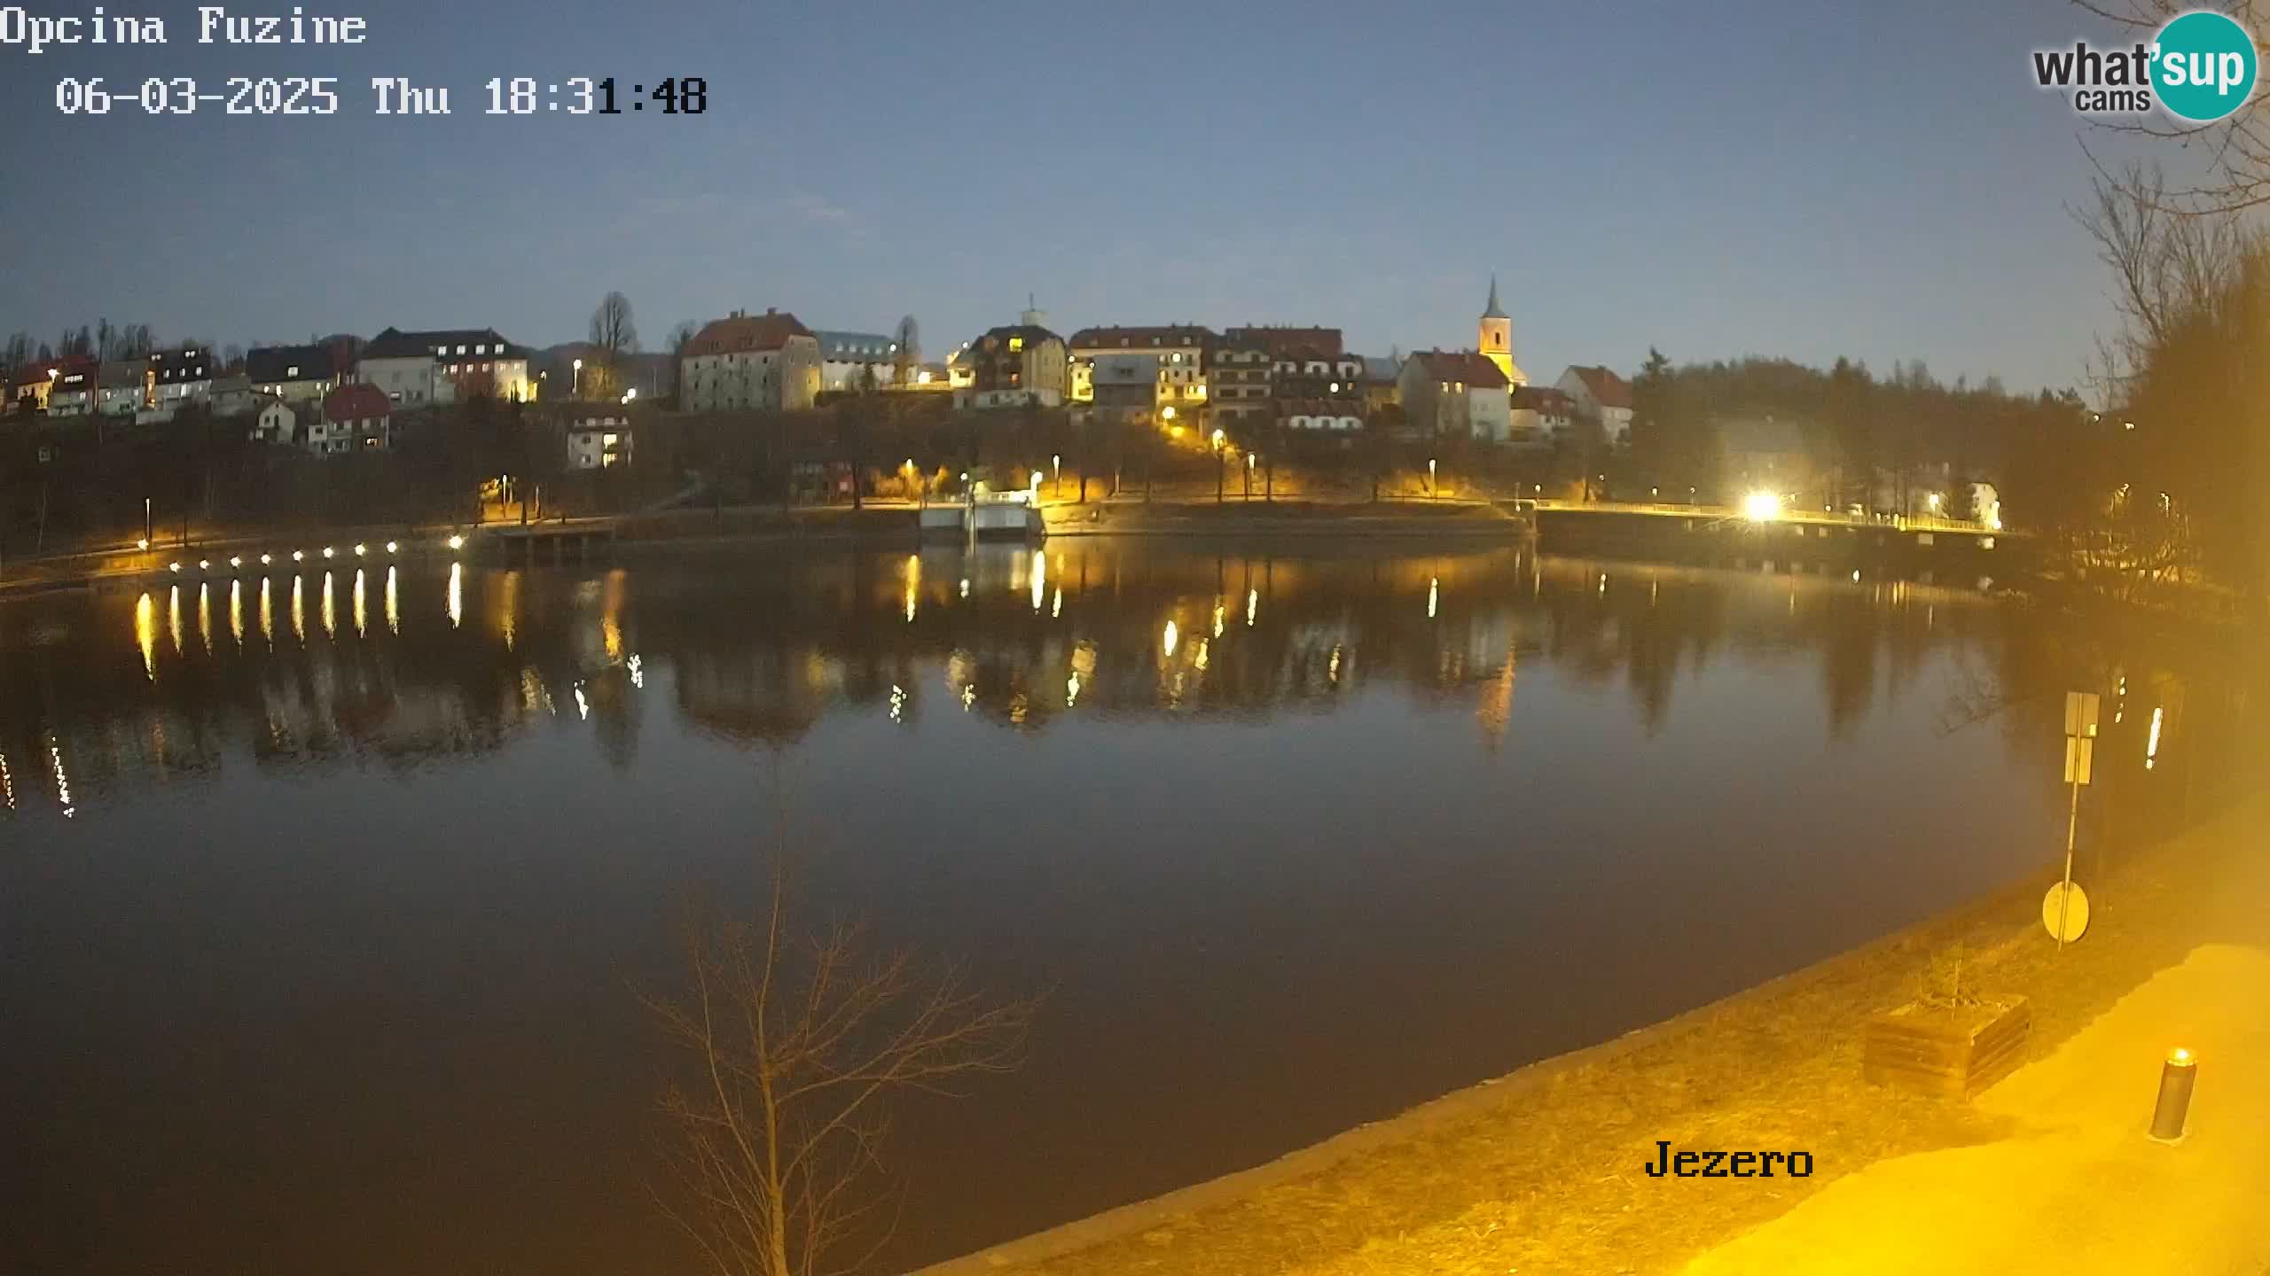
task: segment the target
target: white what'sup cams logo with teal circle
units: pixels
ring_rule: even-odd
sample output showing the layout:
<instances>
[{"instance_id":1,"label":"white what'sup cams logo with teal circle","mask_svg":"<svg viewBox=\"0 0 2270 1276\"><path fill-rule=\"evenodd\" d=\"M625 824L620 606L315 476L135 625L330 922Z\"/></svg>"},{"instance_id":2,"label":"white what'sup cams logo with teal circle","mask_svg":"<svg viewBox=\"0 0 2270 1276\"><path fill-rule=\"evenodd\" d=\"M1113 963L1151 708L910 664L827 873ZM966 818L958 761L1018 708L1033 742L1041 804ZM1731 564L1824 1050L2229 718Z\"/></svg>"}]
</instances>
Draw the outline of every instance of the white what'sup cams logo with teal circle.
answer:
<instances>
[{"instance_id":1,"label":"white what'sup cams logo with teal circle","mask_svg":"<svg viewBox=\"0 0 2270 1276\"><path fill-rule=\"evenodd\" d=\"M2254 95L2254 36L2227 14L2197 9L2170 20L2150 43L2034 50L2034 79L2070 95L2084 116L2141 116L2154 107L2206 125Z\"/></svg>"}]
</instances>

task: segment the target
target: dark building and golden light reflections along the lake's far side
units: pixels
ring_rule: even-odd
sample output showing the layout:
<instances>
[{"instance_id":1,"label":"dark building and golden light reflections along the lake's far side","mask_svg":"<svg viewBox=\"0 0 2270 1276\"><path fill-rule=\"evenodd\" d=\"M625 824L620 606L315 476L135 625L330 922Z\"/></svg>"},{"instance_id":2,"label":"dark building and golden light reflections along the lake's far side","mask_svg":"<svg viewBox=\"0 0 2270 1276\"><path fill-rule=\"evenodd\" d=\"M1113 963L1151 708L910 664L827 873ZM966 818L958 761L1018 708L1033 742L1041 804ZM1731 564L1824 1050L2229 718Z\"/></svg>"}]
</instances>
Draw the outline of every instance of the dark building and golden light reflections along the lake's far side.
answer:
<instances>
[{"instance_id":1,"label":"dark building and golden light reflections along the lake's far side","mask_svg":"<svg viewBox=\"0 0 2270 1276\"><path fill-rule=\"evenodd\" d=\"M974 590L960 602L965 572ZM851 708L915 722L940 681L956 708L1028 731L1065 713L1328 713L1373 683L1471 711L1496 747L1510 733L1516 658L1541 658L1575 681L1623 683L1650 724L1668 715L1689 665L1807 661L1821 670L1832 724L1850 724L1925 652L1995 643L2009 624L1973 595L1905 581L1855 586L1512 549L1276 559L1090 543L1044 556L981 547L767 559L733 574L672 561L602 574L486 572L477 606L513 618L465 615L465 584L463 563L452 563L445 586L400 581L388 568L386 627L372 629L359 572L363 640L306 645L293 577L302 643L279 654L191 645L186 633L161 654L154 597L132 599L132 618L125 599L111 602L116 627L91 647L120 661L111 672L138 661L145 677L125 679L127 695L123 679L95 677L100 658L89 652L84 679L57 681L64 702L82 697L54 711L79 806L102 790L107 770L129 783L202 774L232 740L261 765L322 765L493 749L531 720L556 720L599 731L608 758L627 765L636 692L654 658L674 672L676 711L735 740L794 740ZM431 604L404 615L404 590L413 604L443 593L447 620ZM182 602L175 588L168 620ZM915 622L906 620L910 602ZM266 579L259 606L270 633ZM232 588L232 624L234 611ZM2138 706L2136 720L2145 717ZM2170 704L2161 758L2175 724ZM0 749L16 763L16 788L27 783L23 758L45 756L36 738L7 731ZM2138 770L2152 752L2138 738ZM32 774L52 786L45 770Z\"/></svg>"}]
</instances>

